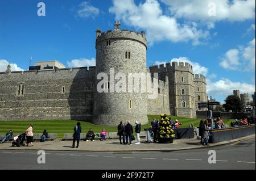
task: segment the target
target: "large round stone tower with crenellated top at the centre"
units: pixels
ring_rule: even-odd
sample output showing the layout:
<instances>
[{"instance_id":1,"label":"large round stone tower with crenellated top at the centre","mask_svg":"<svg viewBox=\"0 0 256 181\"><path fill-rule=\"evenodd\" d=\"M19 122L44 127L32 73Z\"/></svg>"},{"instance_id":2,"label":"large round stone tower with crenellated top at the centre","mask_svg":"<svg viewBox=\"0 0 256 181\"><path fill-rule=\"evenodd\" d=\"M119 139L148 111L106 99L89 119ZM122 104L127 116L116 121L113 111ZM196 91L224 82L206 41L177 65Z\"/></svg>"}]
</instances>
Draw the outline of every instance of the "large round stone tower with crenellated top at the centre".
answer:
<instances>
[{"instance_id":1,"label":"large round stone tower with crenellated top at the centre","mask_svg":"<svg viewBox=\"0 0 256 181\"><path fill-rule=\"evenodd\" d=\"M106 73L109 82L105 81L100 86L105 89L104 92L95 89L94 124L116 126L120 121L131 121L131 124L136 120L142 124L148 121L146 91L128 91L129 74L146 73L147 40L144 32L121 31L120 26L118 22L115 23L114 31L101 32L100 28L96 31L96 86L103 79L99 76L100 73ZM120 73L125 76L120 78ZM118 82L121 80L126 86L122 92L117 91L120 87Z\"/></svg>"}]
</instances>

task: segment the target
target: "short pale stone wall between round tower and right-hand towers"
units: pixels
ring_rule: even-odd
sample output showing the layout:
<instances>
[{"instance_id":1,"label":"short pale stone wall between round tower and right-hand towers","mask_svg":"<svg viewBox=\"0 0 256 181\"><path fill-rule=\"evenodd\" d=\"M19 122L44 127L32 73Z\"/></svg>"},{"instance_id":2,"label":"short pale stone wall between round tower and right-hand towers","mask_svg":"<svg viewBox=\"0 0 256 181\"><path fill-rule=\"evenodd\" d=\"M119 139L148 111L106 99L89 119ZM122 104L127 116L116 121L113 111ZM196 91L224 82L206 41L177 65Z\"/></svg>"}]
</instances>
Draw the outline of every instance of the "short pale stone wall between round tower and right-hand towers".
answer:
<instances>
[{"instance_id":1,"label":"short pale stone wall between round tower and right-hand towers","mask_svg":"<svg viewBox=\"0 0 256 181\"><path fill-rule=\"evenodd\" d=\"M157 98L147 99L147 114L160 115L161 113L166 113L170 115L168 77L167 82L159 81L158 87Z\"/></svg>"}]
</instances>

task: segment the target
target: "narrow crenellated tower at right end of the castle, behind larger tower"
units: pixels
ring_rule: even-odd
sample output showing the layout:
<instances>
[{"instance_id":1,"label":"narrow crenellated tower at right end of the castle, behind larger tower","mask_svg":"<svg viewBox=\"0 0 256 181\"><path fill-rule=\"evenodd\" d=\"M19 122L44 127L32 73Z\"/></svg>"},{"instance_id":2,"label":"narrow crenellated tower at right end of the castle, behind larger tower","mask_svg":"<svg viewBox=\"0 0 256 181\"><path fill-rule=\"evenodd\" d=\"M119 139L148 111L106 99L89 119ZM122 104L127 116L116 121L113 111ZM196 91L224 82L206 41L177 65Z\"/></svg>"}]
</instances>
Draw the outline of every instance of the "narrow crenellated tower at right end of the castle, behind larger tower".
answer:
<instances>
[{"instance_id":1,"label":"narrow crenellated tower at right end of the castle, behind larger tower","mask_svg":"<svg viewBox=\"0 0 256 181\"><path fill-rule=\"evenodd\" d=\"M194 77L194 86L195 86L195 100L196 100L196 110L207 111L207 108L198 108L198 103L207 102L207 90L206 90L206 81L204 75L195 75Z\"/></svg>"}]
</instances>

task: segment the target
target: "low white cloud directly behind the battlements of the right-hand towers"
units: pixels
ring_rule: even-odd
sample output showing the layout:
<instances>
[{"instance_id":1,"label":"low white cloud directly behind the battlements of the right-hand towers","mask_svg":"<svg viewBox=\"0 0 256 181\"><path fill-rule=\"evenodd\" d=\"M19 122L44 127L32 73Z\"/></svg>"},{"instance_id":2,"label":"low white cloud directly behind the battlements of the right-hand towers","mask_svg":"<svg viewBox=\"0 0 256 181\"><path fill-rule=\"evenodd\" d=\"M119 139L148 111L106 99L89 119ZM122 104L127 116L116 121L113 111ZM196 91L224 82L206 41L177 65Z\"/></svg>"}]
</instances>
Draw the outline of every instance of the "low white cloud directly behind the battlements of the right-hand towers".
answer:
<instances>
[{"instance_id":1,"label":"low white cloud directly behind the battlements of the right-hand towers","mask_svg":"<svg viewBox=\"0 0 256 181\"><path fill-rule=\"evenodd\" d=\"M192 62L190 61L187 57L179 57L179 58L173 58L171 62L188 62L193 66L193 73L194 74L202 74L204 76L207 75L208 73L208 68L205 68L204 66L201 66L197 62ZM155 65L160 65L160 64L166 64L167 62L165 61L156 61Z\"/></svg>"}]
</instances>

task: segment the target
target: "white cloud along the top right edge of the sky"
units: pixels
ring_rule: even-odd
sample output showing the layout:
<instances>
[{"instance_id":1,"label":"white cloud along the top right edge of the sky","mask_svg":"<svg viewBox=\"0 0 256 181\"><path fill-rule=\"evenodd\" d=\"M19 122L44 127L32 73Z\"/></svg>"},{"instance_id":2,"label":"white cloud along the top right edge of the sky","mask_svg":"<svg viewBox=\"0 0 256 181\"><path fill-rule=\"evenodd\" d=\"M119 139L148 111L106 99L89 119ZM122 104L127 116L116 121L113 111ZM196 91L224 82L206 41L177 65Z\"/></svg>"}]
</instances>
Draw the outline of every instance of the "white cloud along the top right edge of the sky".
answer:
<instances>
[{"instance_id":1,"label":"white cloud along the top right edge of the sky","mask_svg":"<svg viewBox=\"0 0 256 181\"><path fill-rule=\"evenodd\" d=\"M229 20L243 21L255 19L255 0L161 0L169 6L176 18L187 18L201 21ZM216 16L210 16L209 11L216 7Z\"/></svg>"}]
</instances>

